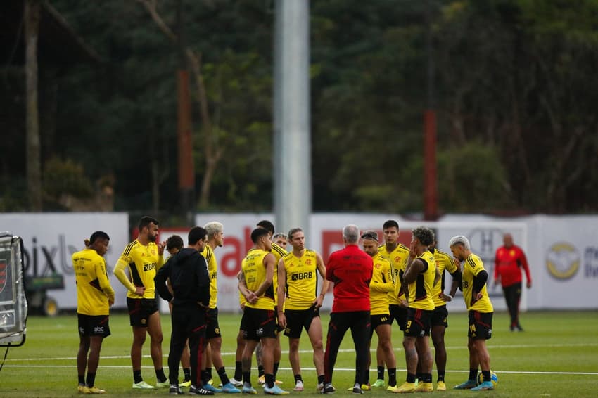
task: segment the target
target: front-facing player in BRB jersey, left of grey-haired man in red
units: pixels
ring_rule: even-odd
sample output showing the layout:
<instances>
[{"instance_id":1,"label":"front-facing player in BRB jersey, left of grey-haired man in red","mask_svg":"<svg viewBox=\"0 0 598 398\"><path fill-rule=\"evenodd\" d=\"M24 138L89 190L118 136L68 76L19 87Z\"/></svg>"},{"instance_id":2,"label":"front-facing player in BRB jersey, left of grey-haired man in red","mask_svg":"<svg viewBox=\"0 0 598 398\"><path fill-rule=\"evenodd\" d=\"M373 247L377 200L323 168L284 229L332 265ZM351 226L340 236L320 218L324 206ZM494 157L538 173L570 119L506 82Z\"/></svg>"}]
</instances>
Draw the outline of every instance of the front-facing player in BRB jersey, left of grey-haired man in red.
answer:
<instances>
[{"instance_id":1,"label":"front-facing player in BRB jersey, left of grey-haired man in red","mask_svg":"<svg viewBox=\"0 0 598 398\"><path fill-rule=\"evenodd\" d=\"M314 349L314 365L318 390L324 387L324 349L322 347L322 321L319 309L324 302L329 281L326 281L324 260L317 252L305 249L303 229L288 231L293 252L282 257L278 266L278 316L284 335L288 337L288 360L295 375L293 391L303 391L303 378L299 364L299 340L303 328ZM318 276L322 288L317 293Z\"/></svg>"}]
</instances>

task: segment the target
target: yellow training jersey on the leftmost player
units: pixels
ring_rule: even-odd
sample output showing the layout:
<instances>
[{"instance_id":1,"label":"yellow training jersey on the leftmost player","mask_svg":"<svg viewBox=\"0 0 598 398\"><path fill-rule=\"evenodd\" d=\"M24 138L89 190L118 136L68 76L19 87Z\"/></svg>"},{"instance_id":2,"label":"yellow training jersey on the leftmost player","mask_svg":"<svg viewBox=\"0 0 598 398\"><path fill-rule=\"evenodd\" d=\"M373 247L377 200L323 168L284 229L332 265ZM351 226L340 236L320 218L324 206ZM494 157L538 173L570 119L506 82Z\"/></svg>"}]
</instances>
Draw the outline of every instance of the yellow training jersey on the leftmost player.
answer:
<instances>
[{"instance_id":1,"label":"yellow training jersey on the leftmost player","mask_svg":"<svg viewBox=\"0 0 598 398\"><path fill-rule=\"evenodd\" d=\"M72 254L77 282L77 314L108 315L114 290L106 274L106 260L93 249Z\"/></svg>"}]
</instances>

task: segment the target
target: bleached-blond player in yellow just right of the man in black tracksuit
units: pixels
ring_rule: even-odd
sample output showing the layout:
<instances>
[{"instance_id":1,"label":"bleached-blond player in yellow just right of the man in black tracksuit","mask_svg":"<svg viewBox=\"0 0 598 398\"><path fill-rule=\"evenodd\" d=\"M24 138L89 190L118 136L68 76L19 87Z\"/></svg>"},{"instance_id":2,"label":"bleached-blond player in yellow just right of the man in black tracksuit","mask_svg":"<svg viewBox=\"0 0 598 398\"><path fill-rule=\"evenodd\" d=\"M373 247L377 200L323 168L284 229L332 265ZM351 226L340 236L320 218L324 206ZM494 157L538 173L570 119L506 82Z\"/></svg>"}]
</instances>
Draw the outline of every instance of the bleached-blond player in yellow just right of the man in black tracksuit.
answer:
<instances>
[{"instance_id":1,"label":"bleached-blond player in yellow just right of the man in black tracksuit","mask_svg":"<svg viewBox=\"0 0 598 398\"><path fill-rule=\"evenodd\" d=\"M227 372L224 369L224 361L222 361L222 334L220 333L220 325L218 324L218 307L217 307L217 271L218 263L214 250L221 248L224 245L224 226L222 223L213 221L208 222L203 226L205 231L208 232L208 244L202 252L205 260L208 262L208 276L210 277L210 305L206 313L206 319L208 321L208 328L205 332L205 337L208 339L208 347L206 350L206 361L204 369L204 388L213 392L229 392L237 393L239 391L229 380ZM212 379L212 362L216 367L220 381L222 382L222 391L212 385L208 384L208 381Z\"/></svg>"}]
</instances>

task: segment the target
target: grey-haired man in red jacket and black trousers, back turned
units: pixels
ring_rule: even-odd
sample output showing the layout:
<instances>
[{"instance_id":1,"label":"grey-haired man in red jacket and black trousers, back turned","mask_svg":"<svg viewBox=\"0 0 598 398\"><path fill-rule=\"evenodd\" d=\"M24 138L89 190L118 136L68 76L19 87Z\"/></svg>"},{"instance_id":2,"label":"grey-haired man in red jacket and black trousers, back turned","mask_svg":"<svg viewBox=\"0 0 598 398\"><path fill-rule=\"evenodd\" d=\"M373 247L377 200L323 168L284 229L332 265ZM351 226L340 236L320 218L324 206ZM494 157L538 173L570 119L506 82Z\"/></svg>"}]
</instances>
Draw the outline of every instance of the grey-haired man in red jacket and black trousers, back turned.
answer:
<instances>
[{"instance_id":1,"label":"grey-haired man in red jacket and black trousers, back turned","mask_svg":"<svg viewBox=\"0 0 598 398\"><path fill-rule=\"evenodd\" d=\"M355 385L353 392L363 394L369 349L369 282L374 271L371 256L361 250L360 229L349 224L343 228L345 248L333 252L326 264L326 279L334 283L332 312L324 354L323 394L332 394L332 371L345 332L351 328L355 344Z\"/></svg>"}]
</instances>

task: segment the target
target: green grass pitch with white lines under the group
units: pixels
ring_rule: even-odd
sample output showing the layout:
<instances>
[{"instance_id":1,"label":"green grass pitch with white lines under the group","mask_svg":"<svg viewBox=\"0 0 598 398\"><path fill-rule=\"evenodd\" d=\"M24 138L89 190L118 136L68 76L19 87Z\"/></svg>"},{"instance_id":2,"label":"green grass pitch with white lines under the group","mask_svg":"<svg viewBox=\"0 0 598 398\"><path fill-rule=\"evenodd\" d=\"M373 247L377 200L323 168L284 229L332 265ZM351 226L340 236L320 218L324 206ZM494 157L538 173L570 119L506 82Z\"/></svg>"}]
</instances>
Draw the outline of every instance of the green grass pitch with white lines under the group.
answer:
<instances>
[{"instance_id":1,"label":"green grass pitch with white lines under the group","mask_svg":"<svg viewBox=\"0 0 598 398\"><path fill-rule=\"evenodd\" d=\"M223 334L222 352L227 373L234 372L234 350L239 315L220 314ZM329 314L322 314L324 333ZM450 314L445 338L447 346L447 386L461 383L468 375L466 348L466 321L464 313ZM433 392L445 397L464 397L485 394L492 397L598 397L598 313L597 312L528 312L522 315L523 333L509 332L507 314L497 313L493 320L493 338L488 341L492 370L499 377L497 389L490 392L449 390ZM163 316L165 335L163 344L167 373L167 351L170 341L170 320ZM104 340L96 386L110 396L167 395L165 389L153 391L132 390L132 370L129 350L132 333L125 314L110 316L112 335ZM393 327L393 342L397 357L397 380L405 380L405 357L402 335ZM69 397L77 395L77 368L75 357L79 345L75 314L56 318L30 317L27 321L27 342L23 347L9 350L4 368L0 371L0 397ZM288 363L288 342L281 338L283 358L278 378L286 390L292 390L293 374ZM372 342L376 345L376 338ZM302 340L304 392L291 395L315 394L316 376L309 340ZM336 395L352 395L345 391L352 385L355 354L350 334L345 335L343 351L333 376ZM0 359L5 348L1 349ZM375 357L375 353L374 353ZM254 363L255 366L255 363ZM148 342L144 345L143 375L148 383L155 383L155 374L149 358ZM214 372L215 374L215 372ZM257 385L257 371L252 372ZM371 382L376 379L376 366L370 371ZM388 375L385 375L388 382ZM433 380L436 373L434 366ZM373 390L366 394L391 394Z\"/></svg>"}]
</instances>

